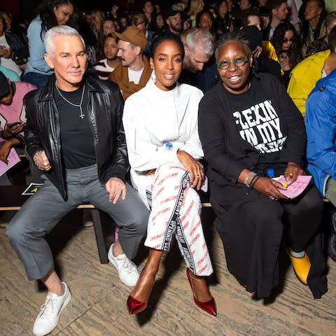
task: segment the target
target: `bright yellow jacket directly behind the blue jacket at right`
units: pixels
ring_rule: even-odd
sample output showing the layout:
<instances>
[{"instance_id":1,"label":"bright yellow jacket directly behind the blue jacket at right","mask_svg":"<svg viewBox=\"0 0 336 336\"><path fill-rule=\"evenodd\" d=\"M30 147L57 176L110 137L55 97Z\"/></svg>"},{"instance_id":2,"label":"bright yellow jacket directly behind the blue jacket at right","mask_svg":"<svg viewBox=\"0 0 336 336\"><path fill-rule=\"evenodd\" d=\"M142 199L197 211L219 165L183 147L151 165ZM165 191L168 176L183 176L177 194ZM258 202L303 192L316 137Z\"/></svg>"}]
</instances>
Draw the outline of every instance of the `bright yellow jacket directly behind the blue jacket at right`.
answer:
<instances>
[{"instance_id":1,"label":"bright yellow jacket directly behind the blue jacket at right","mask_svg":"<svg viewBox=\"0 0 336 336\"><path fill-rule=\"evenodd\" d=\"M306 114L306 100L314 89L316 82L322 78L325 61L330 50L316 52L316 54L303 59L290 73L287 92L302 116Z\"/></svg>"}]
</instances>

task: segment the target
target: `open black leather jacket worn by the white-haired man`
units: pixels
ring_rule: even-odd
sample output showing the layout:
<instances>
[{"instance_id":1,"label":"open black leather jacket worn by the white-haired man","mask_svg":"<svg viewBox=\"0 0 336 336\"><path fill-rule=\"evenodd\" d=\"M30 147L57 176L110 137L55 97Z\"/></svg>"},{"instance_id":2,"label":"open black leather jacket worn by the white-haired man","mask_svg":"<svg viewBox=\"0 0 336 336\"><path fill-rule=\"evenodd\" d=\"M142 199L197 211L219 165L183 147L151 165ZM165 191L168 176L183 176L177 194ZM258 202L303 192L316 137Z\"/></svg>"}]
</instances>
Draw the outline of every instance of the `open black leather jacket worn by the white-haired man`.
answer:
<instances>
[{"instance_id":1,"label":"open black leather jacket worn by the white-haired man","mask_svg":"<svg viewBox=\"0 0 336 336\"><path fill-rule=\"evenodd\" d=\"M94 134L99 181L102 186L111 177L125 181L129 163L122 120L123 97L118 85L110 80L86 76L85 84L89 91L88 111ZM45 86L25 95L23 100L27 113L25 141L31 158L37 151L45 151L52 167L45 174L66 200L59 112L53 99L54 90L55 76L51 76Z\"/></svg>"}]
</instances>

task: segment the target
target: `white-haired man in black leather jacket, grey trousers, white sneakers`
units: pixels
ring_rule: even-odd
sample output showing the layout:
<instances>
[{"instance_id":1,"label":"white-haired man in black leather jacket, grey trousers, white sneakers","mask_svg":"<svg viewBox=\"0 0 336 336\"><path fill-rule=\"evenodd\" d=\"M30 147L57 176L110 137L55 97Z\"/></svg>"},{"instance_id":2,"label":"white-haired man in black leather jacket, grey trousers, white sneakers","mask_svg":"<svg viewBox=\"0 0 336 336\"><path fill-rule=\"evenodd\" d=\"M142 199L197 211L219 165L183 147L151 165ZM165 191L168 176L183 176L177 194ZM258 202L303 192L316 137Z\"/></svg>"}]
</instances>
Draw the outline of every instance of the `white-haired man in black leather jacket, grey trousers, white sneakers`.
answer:
<instances>
[{"instance_id":1,"label":"white-haired man in black leather jacket, grey trousers, white sneakers","mask_svg":"<svg viewBox=\"0 0 336 336\"><path fill-rule=\"evenodd\" d=\"M138 194L125 183L129 164L118 86L85 76L85 44L75 29L50 29L45 34L45 50L45 61L55 76L24 99L27 151L45 181L6 230L28 279L41 279L48 288L34 323L36 336L56 327L71 299L69 288L55 272L45 234L78 204L94 204L119 227L119 240L111 246L109 260L120 280L134 286L139 273L130 259L146 235L149 215Z\"/></svg>"}]
</instances>

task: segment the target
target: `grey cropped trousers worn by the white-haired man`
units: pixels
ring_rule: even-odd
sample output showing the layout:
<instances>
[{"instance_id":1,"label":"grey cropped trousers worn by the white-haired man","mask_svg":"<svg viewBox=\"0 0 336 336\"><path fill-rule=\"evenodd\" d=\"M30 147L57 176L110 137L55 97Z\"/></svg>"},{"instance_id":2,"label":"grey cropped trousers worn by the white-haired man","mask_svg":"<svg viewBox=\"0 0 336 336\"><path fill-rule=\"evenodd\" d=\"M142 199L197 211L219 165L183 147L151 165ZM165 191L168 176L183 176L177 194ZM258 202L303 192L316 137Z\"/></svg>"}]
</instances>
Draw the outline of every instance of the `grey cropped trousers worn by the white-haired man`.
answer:
<instances>
[{"instance_id":1,"label":"grey cropped trousers worn by the white-haired man","mask_svg":"<svg viewBox=\"0 0 336 336\"><path fill-rule=\"evenodd\" d=\"M29 197L7 226L6 235L22 260L29 280L41 279L54 268L45 235L78 204L89 202L109 214L119 228L119 241L127 258L132 259L144 239L149 211L137 192L127 184L125 200L109 202L109 195L97 176L97 166L66 169L63 200L57 188L45 179L38 193Z\"/></svg>"}]
</instances>

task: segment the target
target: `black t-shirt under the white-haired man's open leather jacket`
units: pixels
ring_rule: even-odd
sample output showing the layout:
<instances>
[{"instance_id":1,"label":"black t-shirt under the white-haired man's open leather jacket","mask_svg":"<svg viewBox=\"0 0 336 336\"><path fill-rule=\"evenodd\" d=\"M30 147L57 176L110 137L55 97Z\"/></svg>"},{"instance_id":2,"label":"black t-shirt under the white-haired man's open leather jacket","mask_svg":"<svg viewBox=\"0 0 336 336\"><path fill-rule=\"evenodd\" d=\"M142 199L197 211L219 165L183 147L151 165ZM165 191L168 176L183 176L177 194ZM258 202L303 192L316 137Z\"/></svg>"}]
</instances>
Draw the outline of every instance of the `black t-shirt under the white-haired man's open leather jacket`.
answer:
<instances>
[{"instance_id":1,"label":"black t-shirt under the white-haired man's open leather jacket","mask_svg":"<svg viewBox=\"0 0 336 336\"><path fill-rule=\"evenodd\" d=\"M83 87L76 91L66 92L59 89L62 96L69 102L79 105L83 94ZM66 102L55 89L55 102L59 111L61 127L62 160L66 169L87 167L96 163L94 151L94 136L89 123L89 97L87 88L81 104L82 113L78 106Z\"/></svg>"}]
</instances>

